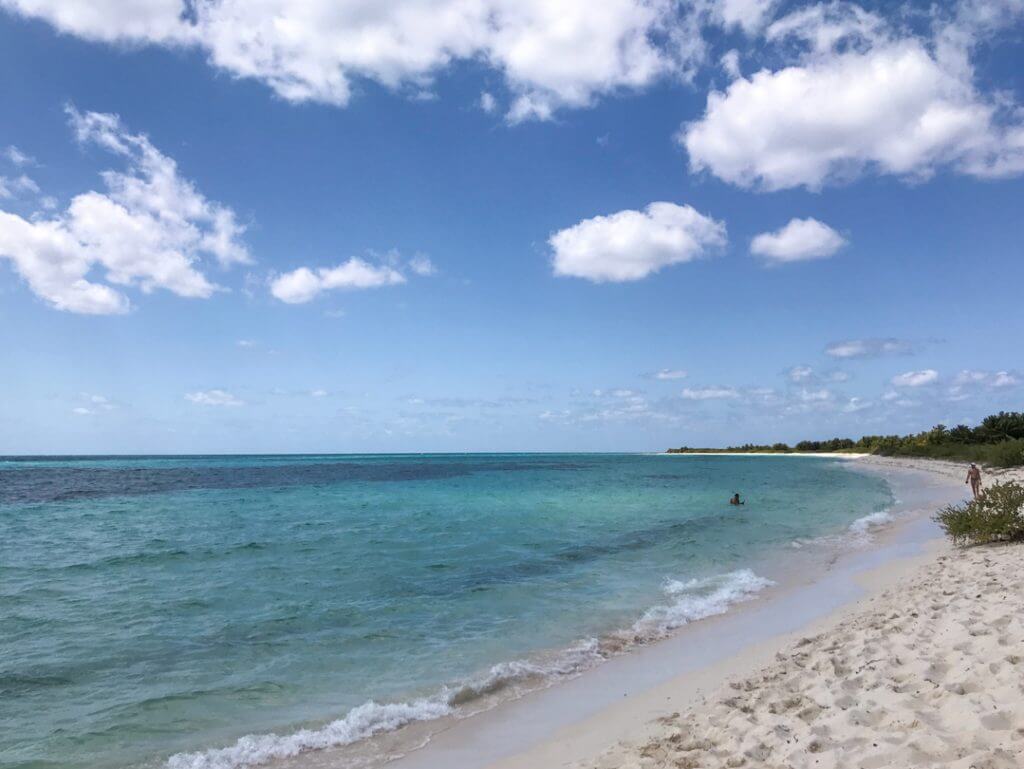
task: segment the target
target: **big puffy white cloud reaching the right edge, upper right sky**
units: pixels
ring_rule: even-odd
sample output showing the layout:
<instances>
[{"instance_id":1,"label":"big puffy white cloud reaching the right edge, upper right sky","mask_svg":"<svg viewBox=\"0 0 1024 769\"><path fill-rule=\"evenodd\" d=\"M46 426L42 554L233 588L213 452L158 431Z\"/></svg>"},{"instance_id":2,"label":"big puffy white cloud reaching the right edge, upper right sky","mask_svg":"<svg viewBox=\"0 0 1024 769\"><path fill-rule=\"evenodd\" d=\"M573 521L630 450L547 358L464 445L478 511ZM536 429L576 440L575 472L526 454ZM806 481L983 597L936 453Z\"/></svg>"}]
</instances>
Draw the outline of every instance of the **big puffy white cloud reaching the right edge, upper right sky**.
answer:
<instances>
[{"instance_id":1,"label":"big puffy white cloud reaching the right edge, upper right sky","mask_svg":"<svg viewBox=\"0 0 1024 769\"><path fill-rule=\"evenodd\" d=\"M1024 123L978 92L963 50L898 38L843 3L796 11L766 37L796 39L803 58L709 94L679 134L694 171L767 190L818 189L865 171L1024 172Z\"/></svg>"}]
</instances>

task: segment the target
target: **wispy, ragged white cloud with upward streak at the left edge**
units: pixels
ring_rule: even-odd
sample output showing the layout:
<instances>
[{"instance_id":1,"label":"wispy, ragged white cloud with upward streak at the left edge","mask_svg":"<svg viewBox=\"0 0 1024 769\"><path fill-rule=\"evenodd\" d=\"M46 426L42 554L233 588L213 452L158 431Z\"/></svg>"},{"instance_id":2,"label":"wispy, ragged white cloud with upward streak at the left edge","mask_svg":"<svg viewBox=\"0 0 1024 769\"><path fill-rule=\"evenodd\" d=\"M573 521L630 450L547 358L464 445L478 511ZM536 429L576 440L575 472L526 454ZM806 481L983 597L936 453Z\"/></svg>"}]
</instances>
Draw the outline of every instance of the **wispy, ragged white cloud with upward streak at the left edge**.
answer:
<instances>
[{"instance_id":1,"label":"wispy, ragged white cloud with upward streak at the left edge","mask_svg":"<svg viewBox=\"0 0 1024 769\"><path fill-rule=\"evenodd\" d=\"M36 295L70 312L126 312L128 298L108 284L206 298L217 287L201 260L250 261L234 212L203 197L148 138L129 133L116 115L69 109L69 116L79 141L122 158L127 171L104 171L106 191L76 196L50 218L0 211L0 257ZM90 280L96 269L108 284Z\"/></svg>"}]
</instances>

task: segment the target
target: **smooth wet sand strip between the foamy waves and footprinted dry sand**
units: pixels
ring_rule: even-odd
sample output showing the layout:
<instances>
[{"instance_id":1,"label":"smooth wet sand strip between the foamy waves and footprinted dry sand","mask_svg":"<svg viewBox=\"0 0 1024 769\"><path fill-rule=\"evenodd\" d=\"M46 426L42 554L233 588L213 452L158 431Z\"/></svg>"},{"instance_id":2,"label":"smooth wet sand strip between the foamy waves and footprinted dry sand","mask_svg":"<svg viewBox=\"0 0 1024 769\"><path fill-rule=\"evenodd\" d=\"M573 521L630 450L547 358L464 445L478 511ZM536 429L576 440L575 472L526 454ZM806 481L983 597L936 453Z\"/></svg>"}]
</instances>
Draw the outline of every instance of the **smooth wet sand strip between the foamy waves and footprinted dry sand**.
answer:
<instances>
[{"instance_id":1,"label":"smooth wet sand strip between the foamy waves and footprinted dry sand","mask_svg":"<svg viewBox=\"0 0 1024 769\"><path fill-rule=\"evenodd\" d=\"M453 721L386 766L597 767L588 762L610 745L650 738L656 719L699 703L706 692L730 677L770 664L811 629L825 629L856 612L879 591L948 549L931 514L936 506L963 497L963 486L951 483L953 467L934 467L927 460L861 460L858 469L890 476L894 509L899 509L896 519L877 529L866 547L848 543L810 579L796 566L783 584L752 602L684 626L667 639L608 659L577 678ZM958 466L955 469L958 473ZM325 761L315 766L341 764Z\"/></svg>"}]
</instances>

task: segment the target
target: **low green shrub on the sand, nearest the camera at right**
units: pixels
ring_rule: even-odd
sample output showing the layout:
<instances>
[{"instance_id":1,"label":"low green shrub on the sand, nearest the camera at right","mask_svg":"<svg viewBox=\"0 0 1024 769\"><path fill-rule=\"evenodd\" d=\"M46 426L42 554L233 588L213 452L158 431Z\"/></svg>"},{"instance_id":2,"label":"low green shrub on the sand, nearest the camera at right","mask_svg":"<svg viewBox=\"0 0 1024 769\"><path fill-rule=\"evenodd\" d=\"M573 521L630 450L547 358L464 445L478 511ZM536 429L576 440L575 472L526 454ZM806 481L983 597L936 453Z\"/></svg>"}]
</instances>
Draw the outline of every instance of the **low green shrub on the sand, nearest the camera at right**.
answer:
<instances>
[{"instance_id":1,"label":"low green shrub on the sand, nearest the camera at right","mask_svg":"<svg viewBox=\"0 0 1024 769\"><path fill-rule=\"evenodd\" d=\"M976 500L947 505L935 520L956 545L1024 540L1024 486L993 483Z\"/></svg>"}]
</instances>

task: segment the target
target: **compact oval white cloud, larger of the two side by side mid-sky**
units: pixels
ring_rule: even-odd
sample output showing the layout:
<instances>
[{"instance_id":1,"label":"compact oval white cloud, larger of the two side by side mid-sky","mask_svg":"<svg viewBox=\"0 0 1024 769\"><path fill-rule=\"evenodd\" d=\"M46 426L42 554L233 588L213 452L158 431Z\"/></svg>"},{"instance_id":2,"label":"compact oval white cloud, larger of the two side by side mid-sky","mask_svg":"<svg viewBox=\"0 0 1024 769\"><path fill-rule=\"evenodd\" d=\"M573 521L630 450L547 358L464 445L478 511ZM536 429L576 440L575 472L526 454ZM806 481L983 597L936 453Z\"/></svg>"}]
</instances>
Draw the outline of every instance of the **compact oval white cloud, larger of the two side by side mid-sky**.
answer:
<instances>
[{"instance_id":1,"label":"compact oval white cloud, larger of the two side by side mid-sky","mask_svg":"<svg viewBox=\"0 0 1024 769\"><path fill-rule=\"evenodd\" d=\"M674 203L584 219L548 240L556 275L595 283L639 281L725 243L723 222Z\"/></svg>"}]
</instances>

